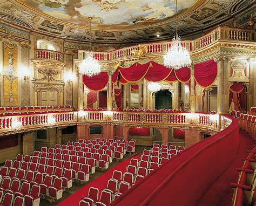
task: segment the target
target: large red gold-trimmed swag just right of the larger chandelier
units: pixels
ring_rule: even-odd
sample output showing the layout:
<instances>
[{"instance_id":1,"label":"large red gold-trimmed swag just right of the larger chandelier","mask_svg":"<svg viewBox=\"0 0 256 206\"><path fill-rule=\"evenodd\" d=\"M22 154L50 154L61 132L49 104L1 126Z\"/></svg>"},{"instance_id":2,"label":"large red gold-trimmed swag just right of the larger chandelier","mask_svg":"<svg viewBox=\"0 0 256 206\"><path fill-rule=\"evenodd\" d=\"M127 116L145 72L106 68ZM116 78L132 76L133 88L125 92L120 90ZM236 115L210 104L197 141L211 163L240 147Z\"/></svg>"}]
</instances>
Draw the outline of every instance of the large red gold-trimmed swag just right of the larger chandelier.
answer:
<instances>
[{"instance_id":1,"label":"large red gold-trimmed swag just right of the larger chandelier","mask_svg":"<svg viewBox=\"0 0 256 206\"><path fill-rule=\"evenodd\" d=\"M218 66L213 59L194 65L194 79L203 88L209 88L217 78Z\"/></svg>"}]
</instances>

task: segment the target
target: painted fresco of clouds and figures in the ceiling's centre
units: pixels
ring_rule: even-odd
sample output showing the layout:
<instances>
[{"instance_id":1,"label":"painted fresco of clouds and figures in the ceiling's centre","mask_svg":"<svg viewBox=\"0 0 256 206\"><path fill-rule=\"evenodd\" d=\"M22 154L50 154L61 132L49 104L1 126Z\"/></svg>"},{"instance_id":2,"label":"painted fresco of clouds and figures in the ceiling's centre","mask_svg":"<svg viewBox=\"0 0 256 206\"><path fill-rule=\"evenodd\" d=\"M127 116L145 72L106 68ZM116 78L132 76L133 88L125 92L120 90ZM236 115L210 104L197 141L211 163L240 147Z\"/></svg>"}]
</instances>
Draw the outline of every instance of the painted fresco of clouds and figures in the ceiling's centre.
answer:
<instances>
[{"instance_id":1,"label":"painted fresco of clouds and figures in the ceiling's centre","mask_svg":"<svg viewBox=\"0 0 256 206\"><path fill-rule=\"evenodd\" d=\"M158 23L175 13L175 0L20 0L46 15L79 26L107 29L136 28ZM185 11L196 0L179 0L178 10Z\"/></svg>"}]
</instances>

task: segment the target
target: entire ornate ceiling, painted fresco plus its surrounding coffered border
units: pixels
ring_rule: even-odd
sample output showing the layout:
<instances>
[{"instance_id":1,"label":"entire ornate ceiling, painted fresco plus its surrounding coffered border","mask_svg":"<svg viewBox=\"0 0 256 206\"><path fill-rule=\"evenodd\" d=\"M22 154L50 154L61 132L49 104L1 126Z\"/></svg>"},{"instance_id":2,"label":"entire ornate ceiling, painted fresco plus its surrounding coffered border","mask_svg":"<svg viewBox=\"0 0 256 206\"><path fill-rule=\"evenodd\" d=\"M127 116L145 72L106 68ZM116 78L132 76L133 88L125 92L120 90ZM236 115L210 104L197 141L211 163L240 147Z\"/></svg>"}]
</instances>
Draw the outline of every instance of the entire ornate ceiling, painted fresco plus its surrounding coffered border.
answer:
<instances>
[{"instance_id":1,"label":"entire ornate ceiling, painted fresco plus its surrounding coffered border","mask_svg":"<svg viewBox=\"0 0 256 206\"><path fill-rule=\"evenodd\" d=\"M254 1L178 0L179 35L194 38L216 25L233 26L233 15ZM66 39L88 41L93 17L93 41L107 44L171 39L174 14L175 0L0 0L0 19Z\"/></svg>"}]
</instances>

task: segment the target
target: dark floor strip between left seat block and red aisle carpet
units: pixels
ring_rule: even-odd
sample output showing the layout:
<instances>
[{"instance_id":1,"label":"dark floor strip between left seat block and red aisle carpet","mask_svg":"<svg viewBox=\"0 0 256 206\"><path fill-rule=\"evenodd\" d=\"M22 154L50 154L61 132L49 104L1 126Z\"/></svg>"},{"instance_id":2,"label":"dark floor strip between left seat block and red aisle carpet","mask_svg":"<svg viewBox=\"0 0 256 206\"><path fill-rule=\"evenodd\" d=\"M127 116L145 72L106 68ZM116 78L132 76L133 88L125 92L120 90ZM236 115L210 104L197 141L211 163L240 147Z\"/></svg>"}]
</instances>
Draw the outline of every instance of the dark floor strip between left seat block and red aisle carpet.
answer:
<instances>
[{"instance_id":1,"label":"dark floor strip between left seat block and red aisle carpet","mask_svg":"<svg viewBox=\"0 0 256 206\"><path fill-rule=\"evenodd\" d=\"M137 154L142 153L144 149L149 149L149 148L151 148L151 147L136 146L136 153ZM124 159L123 160L128 159L132 155L134 155L134 154L129 155L129 153L128 153L128 154L124 155ZM42 205L42 206L57 205L59 202L65 200L65 198L69 197L71 194L75 193L77 190L83 188L84 186L86 186L86 184L88 184L91 181L95 180L98 176L104 174L106 171L108 171L109 169L113 168L114 166L116 166L120 162L121 161L117 162L117 161L113 160L113 162L110 163L109 168L107 170L105 170L105 171L98 171L98 170L96 170L94 174L90 174L90 179L85 184L81 185L81 184L79 184L77 182L73 182L72 187L68 191L63 191L63 196L62 196L62 198L60 198L60 200L58 200L58 201L56 201L54 203L51 203L48 200L42 200L41 199L40 205ZM86 195L87 194L85 194L84 196L86 196Z\"/></svg>"}]
</instances>

